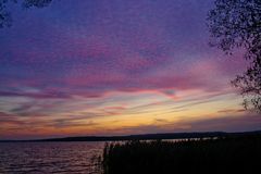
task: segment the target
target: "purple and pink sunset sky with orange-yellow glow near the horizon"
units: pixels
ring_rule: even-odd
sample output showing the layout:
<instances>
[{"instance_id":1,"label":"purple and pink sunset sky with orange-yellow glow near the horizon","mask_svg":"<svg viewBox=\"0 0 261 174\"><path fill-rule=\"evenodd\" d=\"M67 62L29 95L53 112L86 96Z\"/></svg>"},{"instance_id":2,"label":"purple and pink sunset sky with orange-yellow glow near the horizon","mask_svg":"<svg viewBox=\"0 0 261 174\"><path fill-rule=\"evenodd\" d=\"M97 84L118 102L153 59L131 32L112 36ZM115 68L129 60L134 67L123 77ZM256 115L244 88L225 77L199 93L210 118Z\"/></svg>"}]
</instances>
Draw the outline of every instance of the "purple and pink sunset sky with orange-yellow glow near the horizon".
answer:
<instances>
[{"instance_id":1,"label":"purple and pink sunset sky with orange-yellow glow near the horizon","mask_svg":"<svg viewBox=\"0 0 261 174\"><path fill-rule=\"evenodd\" d=\"M209 46L213 0L9 3L0 139L261 128L231 80L243 50Z\"/></svg>"}]
</instances>

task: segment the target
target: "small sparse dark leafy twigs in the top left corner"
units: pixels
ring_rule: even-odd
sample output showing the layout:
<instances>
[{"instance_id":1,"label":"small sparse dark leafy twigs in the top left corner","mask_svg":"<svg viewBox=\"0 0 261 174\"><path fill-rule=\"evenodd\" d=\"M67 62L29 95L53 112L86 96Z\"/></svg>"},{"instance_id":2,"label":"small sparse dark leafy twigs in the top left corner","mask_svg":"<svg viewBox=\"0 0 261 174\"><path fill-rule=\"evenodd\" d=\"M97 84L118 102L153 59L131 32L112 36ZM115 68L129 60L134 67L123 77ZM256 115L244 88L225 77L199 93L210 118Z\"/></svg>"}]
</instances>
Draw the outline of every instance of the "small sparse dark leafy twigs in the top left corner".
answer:
<instances>
[{"instance_id":1,"label":"small sparse dark leafy twigs in the top left corner","mask_svg":"<svg viewBox=\"0 0 261 174\"><path fill-rule=\"evenodd\" d=\"M29 8L45 8L51 3L52 0L23 0L22 7ZM10 27L12 24L11 12L8 11L9 3L18 3L18 0L0 0L0 28Z\"/></svg>"}]
</instances>

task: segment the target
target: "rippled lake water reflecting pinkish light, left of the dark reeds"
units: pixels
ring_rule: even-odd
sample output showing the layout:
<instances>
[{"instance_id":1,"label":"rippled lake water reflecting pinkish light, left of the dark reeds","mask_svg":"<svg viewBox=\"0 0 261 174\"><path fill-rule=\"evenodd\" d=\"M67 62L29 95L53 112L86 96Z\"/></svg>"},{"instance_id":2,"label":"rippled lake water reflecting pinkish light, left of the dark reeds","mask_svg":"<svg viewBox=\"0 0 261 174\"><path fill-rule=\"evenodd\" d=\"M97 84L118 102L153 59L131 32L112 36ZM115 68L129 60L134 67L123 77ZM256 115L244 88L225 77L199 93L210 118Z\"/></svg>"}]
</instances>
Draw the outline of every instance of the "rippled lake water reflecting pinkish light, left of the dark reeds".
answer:
<instances>
[{"instance_id":1,"label":"rippled lake water reflecting pinkish light, left of the dark reeds","mask_svg":"<svg viewBox=\"0 0 261 174\"><path fill-rule=\"evenodd\" d=\"M1 174L90 174L104 142L4 142L0 144Z\"/></svg>"}]
</instances>

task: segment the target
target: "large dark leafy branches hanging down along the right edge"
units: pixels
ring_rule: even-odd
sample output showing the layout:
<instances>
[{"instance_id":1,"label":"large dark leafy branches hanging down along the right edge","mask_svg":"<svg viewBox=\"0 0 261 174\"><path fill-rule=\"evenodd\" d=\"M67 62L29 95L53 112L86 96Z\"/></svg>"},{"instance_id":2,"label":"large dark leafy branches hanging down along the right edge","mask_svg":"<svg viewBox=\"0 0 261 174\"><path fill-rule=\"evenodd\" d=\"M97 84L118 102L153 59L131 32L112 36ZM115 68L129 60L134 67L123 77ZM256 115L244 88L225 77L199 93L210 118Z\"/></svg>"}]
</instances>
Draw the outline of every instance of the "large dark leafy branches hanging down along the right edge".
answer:
<instances>
[{"instance_id":1,"label":"large dark leafy branches hanging down along the right edge","mask_svg":"<svg viewBox=\"0 0 261 174\"><path fill-rule=\"evenodd\" d=\"M250 61L232 84L240 90L246 109L261 112L261 0L215 0L208 14L211 45L228 54L244 48Z\"/></svg>"}]
</instances>

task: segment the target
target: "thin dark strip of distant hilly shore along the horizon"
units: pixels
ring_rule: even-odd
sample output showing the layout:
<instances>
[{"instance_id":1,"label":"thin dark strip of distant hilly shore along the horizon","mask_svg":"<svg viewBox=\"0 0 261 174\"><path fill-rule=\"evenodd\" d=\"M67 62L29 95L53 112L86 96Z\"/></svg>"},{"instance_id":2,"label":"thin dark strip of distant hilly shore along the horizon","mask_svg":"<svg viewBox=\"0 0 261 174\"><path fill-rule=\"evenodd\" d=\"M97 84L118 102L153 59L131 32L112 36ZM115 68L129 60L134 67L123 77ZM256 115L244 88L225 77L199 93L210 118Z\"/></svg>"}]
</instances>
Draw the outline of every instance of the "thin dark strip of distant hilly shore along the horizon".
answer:
<instances>
[{"instance_id":1,"label":"thin dark strip of distant hilly shore along the horizon","mask_svg":"<svg viewBox=\"0 0 261 174\"><path fill-rule=\"evenodd\" d=\"M153 139L191 139L191 138L213 138L213 137L233 137L233 136L254 136L261 135L261 130L253 132L194 132L194 133L161 133L161 134L141 134L126 136L82 136L47 139L28 140L0 140L0 142L42 142L42 141L121 141L121 140L153 140Z\"/></svg>"}]
</instances>

